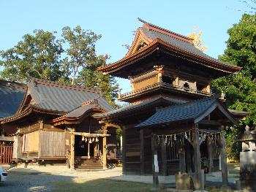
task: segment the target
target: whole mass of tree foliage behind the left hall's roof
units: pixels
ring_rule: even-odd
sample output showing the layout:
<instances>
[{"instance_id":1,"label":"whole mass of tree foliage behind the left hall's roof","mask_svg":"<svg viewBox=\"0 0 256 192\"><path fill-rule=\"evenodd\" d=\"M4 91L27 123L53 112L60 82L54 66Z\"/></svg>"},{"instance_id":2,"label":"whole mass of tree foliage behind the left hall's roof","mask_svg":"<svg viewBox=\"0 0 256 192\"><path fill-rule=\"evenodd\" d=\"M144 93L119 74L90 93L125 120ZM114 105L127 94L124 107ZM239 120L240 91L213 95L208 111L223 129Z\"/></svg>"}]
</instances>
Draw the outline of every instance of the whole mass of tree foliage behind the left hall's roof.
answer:
<instances>
[{"instance_id":1,"label":"whole mass of tree foliage behind the left hall's roof","mask_svg":"<svg viewBox=\"0 0 256 192\"><path fill-rule=\"evenodd\" d=\"M96 54L95 43L100 37L80 26L62 28L61 39L56 38L56 32L43 30L25 34L17 45L0 52L0 66L4 67L0 78L23 82L35 77L100 88L116 107L116 80L97 71L109 58Z\"/></svg>"}]
</instances>

